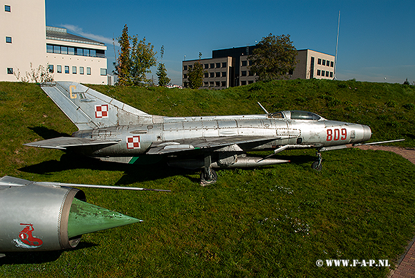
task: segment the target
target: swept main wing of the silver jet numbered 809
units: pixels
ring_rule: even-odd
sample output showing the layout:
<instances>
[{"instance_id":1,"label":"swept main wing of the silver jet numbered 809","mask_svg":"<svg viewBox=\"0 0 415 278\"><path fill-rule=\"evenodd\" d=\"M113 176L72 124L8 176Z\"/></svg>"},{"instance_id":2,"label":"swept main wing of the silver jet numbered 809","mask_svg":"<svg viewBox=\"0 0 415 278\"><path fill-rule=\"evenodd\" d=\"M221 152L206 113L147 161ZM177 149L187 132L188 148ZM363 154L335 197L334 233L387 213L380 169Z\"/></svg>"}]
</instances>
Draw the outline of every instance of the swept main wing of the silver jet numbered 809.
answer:
<instances>
[{"instance_id":1,"label":"swept main wing of the silver jet numbered 809","mask_svg":"<svg viewBox=\"0 0 415 278\"><path fill-rule=\"evenodd\" d=\"M282 139L279 137L266 136L230 136L230 137L205 137L174 140L174 142L163 142L151 146L147 154L172 154L179 151L190 151L194 149L219 149L230 145L256 143L263 145L273 140Z\"/></svg>"}]
</instances>

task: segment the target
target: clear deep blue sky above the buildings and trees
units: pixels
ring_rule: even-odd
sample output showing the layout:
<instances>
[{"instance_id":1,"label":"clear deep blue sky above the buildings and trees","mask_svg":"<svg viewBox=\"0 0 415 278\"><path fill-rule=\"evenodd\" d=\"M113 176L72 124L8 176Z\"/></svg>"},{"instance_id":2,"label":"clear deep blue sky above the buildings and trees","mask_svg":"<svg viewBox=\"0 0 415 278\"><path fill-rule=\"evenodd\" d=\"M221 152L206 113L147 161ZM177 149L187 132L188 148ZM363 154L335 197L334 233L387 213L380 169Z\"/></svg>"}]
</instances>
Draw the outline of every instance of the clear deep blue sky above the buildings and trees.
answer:
<instances>
[{"instance_id":1,"label":"clear deep blue sky above the buildings and trees","mask_svg":"<svg viewBox=\"0 0 415 278\"><path fill-rule=\"evenodd\" d=\"M338 14L338 80L415 81L415 1L51 1L46 25L64 27L107 44L124 24L129 35L154 45L173 84L181 84L186 59L212 57L212 50L254 45L269 33L289 34L297 49L335 55ZM118 50L118 49L117 49ZM152 69L156 79L156 68ZM151 75L150 75L151 77ZM386 79L385 79L386 78Z\"/></svg>"}]
</instances>

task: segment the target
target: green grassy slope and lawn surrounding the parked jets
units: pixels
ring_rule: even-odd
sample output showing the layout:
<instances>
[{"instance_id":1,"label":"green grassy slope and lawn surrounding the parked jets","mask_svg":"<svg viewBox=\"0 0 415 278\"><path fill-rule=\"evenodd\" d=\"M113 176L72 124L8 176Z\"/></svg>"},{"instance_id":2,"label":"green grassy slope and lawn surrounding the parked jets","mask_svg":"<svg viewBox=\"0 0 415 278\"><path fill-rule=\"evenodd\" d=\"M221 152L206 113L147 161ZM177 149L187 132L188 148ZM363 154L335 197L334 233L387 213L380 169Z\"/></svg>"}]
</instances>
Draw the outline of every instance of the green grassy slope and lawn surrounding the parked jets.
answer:
<instances>
[{"instance_id":1,"label":"green grassy slope and lawn surrounding the parked jets","mask_svg":"<svg viewBox=\"0 0 415 278\"><path fill-rule=\"evenodd\" d=\"M158 115L313 111L368 124L371 140L405 138L415 147L415 86L289 80L221 91L91 85ZM22 144L76 131L35 84L0 82L0 176L66 183L171 189L84 189L90 203L145 220L86 234L75 250L8 254L0 277L386 277L386 267L317 267L317 259L388 259L414 236L415 167L384 151L346 149L279 154L290 164L197 172L163 164L131 167ZM1 205L1 204L0 204Z\"/></svg>"}]
</instances>

